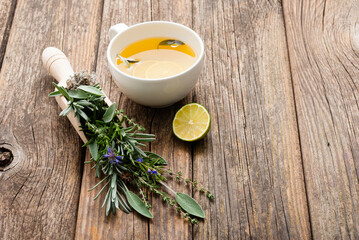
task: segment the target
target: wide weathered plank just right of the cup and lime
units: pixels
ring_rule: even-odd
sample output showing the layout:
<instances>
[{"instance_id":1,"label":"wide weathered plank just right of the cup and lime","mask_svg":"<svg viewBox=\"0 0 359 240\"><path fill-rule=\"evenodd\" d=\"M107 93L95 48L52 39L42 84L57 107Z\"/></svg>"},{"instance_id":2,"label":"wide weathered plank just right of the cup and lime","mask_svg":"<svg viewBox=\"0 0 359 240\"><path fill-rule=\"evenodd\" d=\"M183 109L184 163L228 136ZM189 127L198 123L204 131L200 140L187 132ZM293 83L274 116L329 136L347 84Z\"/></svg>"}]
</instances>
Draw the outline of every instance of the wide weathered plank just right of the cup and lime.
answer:
<instances>
[{"instance_id":1,"label":"wide weathered plank just right of the cup and lime","mask_svg":"<svg viewBox=\"0 0 359 240\"><path fill-rule=\"evenodd\" d=\"M206 46L195 100L212 114L193 175L217 197L201 197L194 238L309 239L281 4L194 1L193 28Z\"/></svg>"}]
</instances>

